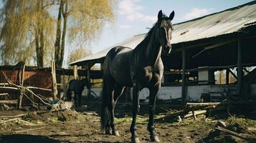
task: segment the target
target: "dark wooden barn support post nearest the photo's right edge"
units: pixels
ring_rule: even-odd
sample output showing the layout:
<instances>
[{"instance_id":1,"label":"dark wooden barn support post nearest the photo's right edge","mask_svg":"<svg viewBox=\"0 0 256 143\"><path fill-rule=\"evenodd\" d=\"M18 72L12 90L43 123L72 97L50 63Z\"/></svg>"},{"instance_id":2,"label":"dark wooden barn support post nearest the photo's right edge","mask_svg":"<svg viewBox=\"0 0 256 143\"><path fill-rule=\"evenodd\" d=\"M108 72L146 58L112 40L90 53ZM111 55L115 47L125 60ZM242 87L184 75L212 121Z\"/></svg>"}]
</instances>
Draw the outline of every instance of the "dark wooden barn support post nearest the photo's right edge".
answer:
<instances>
[{"instance_id":1,"label":"dark wooden barn support post nearest the photo's right edge","mask_svg":"<svg viewBox=\"0 0 256 143\"><path fill-rule=\"evenodd\" d=\"M241 39L237 41L237 94L241 94L242 86L242 48Z\"/></svg>"}]
</instances>

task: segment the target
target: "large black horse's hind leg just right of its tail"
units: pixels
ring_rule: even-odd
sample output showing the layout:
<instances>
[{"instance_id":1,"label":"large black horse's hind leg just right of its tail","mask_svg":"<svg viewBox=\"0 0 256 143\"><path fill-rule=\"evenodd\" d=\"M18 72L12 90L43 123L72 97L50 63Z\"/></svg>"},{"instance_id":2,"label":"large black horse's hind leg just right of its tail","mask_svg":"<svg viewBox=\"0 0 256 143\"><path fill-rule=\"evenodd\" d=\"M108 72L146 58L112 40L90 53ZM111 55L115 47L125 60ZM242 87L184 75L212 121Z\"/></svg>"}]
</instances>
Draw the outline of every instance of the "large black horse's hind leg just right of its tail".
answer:
<instances>
[{"instance_id":1,"label":"large black horse's hind leg just right of its tail","mask_svg":"<svg viewBox=\"0 0 256 143\"><path fill-rule=\"evenodd\" d=\"M114 88L114 94L112 96L112 98L110 99L110 127L112 128L112 134L119 136L119 133L117 130L115 130L115 114L114 114L114 110L115 110L115 103L117 102L118 98L120 97L121 94L123 94L123 89L124 87L115 84L115 88Z\"/></svg>"}]
</instances>

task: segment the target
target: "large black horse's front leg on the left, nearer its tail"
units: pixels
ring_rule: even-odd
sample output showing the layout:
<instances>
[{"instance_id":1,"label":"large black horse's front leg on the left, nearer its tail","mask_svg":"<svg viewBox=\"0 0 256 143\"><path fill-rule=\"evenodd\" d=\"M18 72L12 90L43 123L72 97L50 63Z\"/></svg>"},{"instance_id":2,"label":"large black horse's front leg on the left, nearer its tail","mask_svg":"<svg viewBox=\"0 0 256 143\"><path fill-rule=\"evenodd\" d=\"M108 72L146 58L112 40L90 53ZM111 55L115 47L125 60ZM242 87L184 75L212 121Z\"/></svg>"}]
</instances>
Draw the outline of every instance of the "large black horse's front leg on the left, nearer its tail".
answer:
<instances>
[{"instance_id":1,"label":"large black horse's front leg on the left, nearer its tail","mask_svg":"<svg viewBox=\"0 0 256 143\"><path fill-rule=\"evenodd\" d=\"M138 112L140 111L139 92L140 88L138 86L133 86L133 121L131 123L130 132L131 142L134 143L140 142L140 140L138 139L138 134L136 132L136 117Z\"/></svg>"}]
</instances>

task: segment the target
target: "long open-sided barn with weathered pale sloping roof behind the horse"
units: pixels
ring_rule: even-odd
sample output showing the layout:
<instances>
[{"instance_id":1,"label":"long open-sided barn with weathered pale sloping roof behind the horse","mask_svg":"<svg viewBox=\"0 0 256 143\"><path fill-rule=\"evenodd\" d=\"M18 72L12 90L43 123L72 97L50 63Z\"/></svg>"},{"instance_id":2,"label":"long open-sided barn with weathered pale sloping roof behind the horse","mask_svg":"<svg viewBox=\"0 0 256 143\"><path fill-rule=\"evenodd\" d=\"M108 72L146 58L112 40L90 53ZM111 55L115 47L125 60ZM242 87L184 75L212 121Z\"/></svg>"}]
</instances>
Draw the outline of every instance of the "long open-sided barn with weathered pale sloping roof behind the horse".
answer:
<instances>
[{"instance_id":1,"label":"long open-sided barn with weathered pale sloping roof behind the horse","mask_svg":"<svg viewBox=\"0 0 256 143\"><path fill-rule=\"evenodd\" d=\"M165 72L158 99L199 102L229 95L256 95L256 1L190 21L174 24L170 56L162 56ZM138 34L114 46L134 49L146 36ZM91 67L103 64L113 46L70 63ZM88 68L87 68L88 69ZM89 68L90 69L90 68ZM214 73L222 71L217 84ZM234 80L233 80L234 79ZM92 89L100 94L101 89ZM141 91L147 99L148 89ZM207 99L206 98L206 99Z\"/></svg>"}]
</instances>

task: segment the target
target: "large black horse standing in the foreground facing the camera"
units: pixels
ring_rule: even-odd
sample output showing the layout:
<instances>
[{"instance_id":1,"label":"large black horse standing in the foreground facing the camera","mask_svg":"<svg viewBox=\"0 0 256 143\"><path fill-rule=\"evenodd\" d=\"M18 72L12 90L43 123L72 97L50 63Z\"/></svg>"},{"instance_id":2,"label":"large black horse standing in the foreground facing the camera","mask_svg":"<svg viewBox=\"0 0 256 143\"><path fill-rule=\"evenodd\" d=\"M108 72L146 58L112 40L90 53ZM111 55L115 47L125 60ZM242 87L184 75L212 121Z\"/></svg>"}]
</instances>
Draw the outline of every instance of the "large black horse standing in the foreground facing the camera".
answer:
<instances>
[{"instance_id":1,"label":"large black horse standing in the foreground facing the camera","mask_svg":"<svg viewBox=\"0 0 256 143\"><path fill-rule=\"evenodd\" d=\"M133 87L133 121L131 124L131 141L140 142L136 133L136 116L139 112L139 92L147 87L149 94L148 131L153 142L160 142L153 125L156 95L161 87L163 62L161 54L171 52L171 20L174 11L166 16L158 12L158 21L153 25L145 39L135 49L116 46L108 51L104 63L104 82L101 112L101 129L105 134L119 135L115 130L114 108L118 97L125 87ZM112 131L110 132L110 128Z\"/></svg>"}]
</instances>

